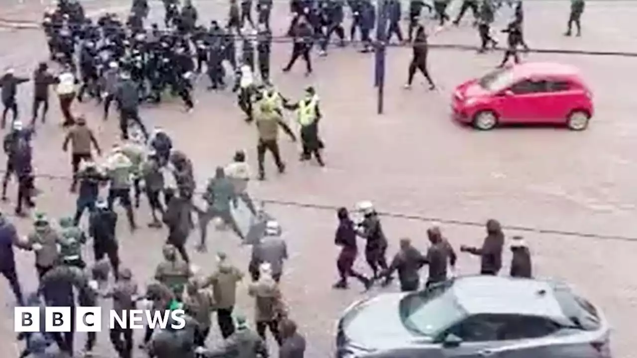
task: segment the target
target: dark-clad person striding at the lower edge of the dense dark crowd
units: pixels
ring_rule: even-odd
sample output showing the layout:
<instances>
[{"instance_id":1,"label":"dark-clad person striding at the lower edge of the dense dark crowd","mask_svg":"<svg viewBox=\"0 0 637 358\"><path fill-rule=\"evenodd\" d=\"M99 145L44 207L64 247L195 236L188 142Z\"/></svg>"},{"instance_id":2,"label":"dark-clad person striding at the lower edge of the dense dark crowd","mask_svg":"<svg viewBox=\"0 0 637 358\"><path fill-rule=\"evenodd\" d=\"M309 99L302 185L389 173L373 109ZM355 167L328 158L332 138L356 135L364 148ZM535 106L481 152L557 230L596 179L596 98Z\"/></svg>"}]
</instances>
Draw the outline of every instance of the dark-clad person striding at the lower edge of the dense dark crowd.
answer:
<instances>
[{"instance_id":1,"label":"dark-clad person striding at the lower edge of the dense dark crowd","mask_svg":"<svg viewBox=\"0 0 637 358\"><path fill-rule=\"evenodd\" d=\"M120 131L122 140L128 139L128 127L130 121L134 122L148 140L148 131L140 118L140 91L136 83L131 80L130 73L122 73L121 80L115 90L115 100L119 104L120 110Z\"/></svg>"}]
</instances>

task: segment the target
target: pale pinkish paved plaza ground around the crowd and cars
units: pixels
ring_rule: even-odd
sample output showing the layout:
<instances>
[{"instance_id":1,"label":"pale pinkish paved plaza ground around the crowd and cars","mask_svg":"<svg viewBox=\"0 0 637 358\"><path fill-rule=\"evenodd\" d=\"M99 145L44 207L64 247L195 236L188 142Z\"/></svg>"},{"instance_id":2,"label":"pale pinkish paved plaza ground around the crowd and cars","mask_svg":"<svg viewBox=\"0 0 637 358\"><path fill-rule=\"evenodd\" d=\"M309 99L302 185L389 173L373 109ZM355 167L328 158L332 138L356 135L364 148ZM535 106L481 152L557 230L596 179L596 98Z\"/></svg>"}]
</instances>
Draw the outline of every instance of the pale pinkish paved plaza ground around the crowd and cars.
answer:
<instances>
[{"instance_id":1,"label":"pale pinkish paved plaza ground around the crowd and cars","mask_svg":"<svg viewBox=\"0 0 637 358\"><path fill-rule=\"evenodd\" d=\"M6 3L4 0L3 4ZM225 18L223 3L194 3L204 19ZM87 3L92 13L101 8L124 11L127 7L127 3L112 1ZM153 3L152 7L151 17L159 19L161 4ZM41 10L39 2L10 8L13 7L6 6L2 17L33 20L41 15L35 12ZM525 10L526 36L531 47L637 52L637 38L630 24L631 18L637 18L634 16L637 4L588 2L582 38L561 36L568 16L567 1L527 1ZM287 19L287 4L275 6L275 32L283 32ZM475 31L466 25L431 38L432 43L476 41ZM47 55L40 31L1 31L0 44L0 67L14 66L17 75L31 75L37 62ZM308 338L308 357L332 354L334 324L348 304L366 295L396 290L396 287L375 288L363 293L357 282L352 282L352 289L347 291L332 290L331 284L336 280L335 212L300 205L352 207L361 199L372 200L380 211L460 223L443 224L445 236L455 248L462 244L479 245L483 229L469 224L479 224L487 218L498 218L506 226L581 233L575 236L506 230L507 236L517 233L526 236L537 276L566 280L603 308L615 328L612 339L617 357L637 357L631 334L633 321L637 319L637 278L631 274L637 241L630 240L637 240L634 222L637 122L633 118L637 104L630 81L637 59L529 54L525 61L556 61L582 69L594 90L596 103L597 113L590 128L585 132L546 128L475 132L448 119L451 91L463 80L492 69L501 59L499 52L478 57L473 52L432 50L429 67L440 89L427 92L420 79L412 90L401 89L411 50L392 48L387 64L385 115L378 116L372 83L373 56L359 54L351 47L334 48L329 57L314 58L315 74L306 78L302 64L297 64L287 75L280 73L289 50L289 44L274 45L274 82L285 96L293 99L298 99L307 85L317 88L324 112L320 132L327 145L324 154L327 166L319 168L298 162L297 144L283 138L287 173L277 175L269 162L268 180L252 183L250 190L262 199L297 203L268 204L267 209L281 222L290 247L283 292L293 318ZM171 99L159 107L145 106L141 116L148 124L168 130L176 147L195 163L195 175L203 184L213 175L215 167L227 163L239 148L247 150L250 164L256 166L257 134L254 126L243 122L233 94L206 92L206 79L200 82L194 113L185 113L182 104ZM22 120L28 120L30 84L20 87L18 101ZM75 111L86 114L103 148L115 143L118 131L114 114L103 122L101 109L94 103L76 104ZM292 115L288 118L292 120ZM52 97L48 123L39 125L34 141L38 173L65 176L70 172L69 154L61 152L64 131L60 123L59 108ZM54 218L72 213L75 198L68 193L68 181L40 178L37 185L43 190L37 199L38 210ZM13 211L10 204L3 204L1 209L4 213ZM142 228L134 236L128 233L123 211L118 212L123 221L118 227L120 255L136 278L145 282L159 262L159 247L166 233L144 227L149 219L145 201L137 214ZM13 220L21 234L28 232L29 220ZM428 224L422 220L384 218L390 254L396 251L397 240L403 236L409 236L424 250ZM209 254L194 253L197 236L196 232L192 234L189 248L194 263L203 273L213 270L215 250L224 250L240 268L247 268L248 248L240 247L231 234L212 231ZM32 289L36 282L32 254L20 253L18 261L20 279ZM507 256L505 262L508 261ZM461 255L458 265L461 273L478 271L478 260L474 257ZM364 262L358 262L357 266L368 272ZM6 347L15 346L17 350L11 339L13 297L8 285L3 287L1 313L6 318L0 319L0 334ZM245 294L245 285L239 296L239 309L250 317L252 301ZM213 331L218 331L216 326ZM83 334L78 336L83 341ZM141 333L136 338L141 339ZM108 336L101 334L98 342L98 351L104 357L112 357ZM7 356L13 357L14 348L6 348L7 352L10 349L11 355ZM136 354L143 357L141 352Z\"/></svg>"}]
</instances>

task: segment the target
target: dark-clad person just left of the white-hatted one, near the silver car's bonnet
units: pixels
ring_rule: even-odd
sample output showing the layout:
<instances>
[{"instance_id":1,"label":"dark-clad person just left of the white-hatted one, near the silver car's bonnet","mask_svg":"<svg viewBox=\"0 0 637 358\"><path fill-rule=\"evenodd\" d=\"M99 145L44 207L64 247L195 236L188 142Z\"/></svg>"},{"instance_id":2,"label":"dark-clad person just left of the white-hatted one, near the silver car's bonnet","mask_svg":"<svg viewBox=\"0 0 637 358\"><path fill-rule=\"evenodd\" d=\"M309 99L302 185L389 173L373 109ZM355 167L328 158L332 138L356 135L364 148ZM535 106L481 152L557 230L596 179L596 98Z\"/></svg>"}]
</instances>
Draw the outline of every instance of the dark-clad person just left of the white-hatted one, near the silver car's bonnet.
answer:
<instances>
[{"instance_id":1,"label":"dark-clad person just left of the white-hatted one, near the silver car's bonnet","mask_svg":"<svg viewBox=\"0 0 637 358\"><path fill-rule=\"evenodd\" d=\"M346 208L339 208L336 217L338 217L338 229L334 243L341 247L341 253L336 259L336 268L340 280L334 283L335 289L347 289L347 278L355 277L364 286L365 289L371 287L371 280L354 270L354 261L358 255L358 245L356 243L356 229L354 222L350 219L350 215Z\"/></svg>"}]
</instances>

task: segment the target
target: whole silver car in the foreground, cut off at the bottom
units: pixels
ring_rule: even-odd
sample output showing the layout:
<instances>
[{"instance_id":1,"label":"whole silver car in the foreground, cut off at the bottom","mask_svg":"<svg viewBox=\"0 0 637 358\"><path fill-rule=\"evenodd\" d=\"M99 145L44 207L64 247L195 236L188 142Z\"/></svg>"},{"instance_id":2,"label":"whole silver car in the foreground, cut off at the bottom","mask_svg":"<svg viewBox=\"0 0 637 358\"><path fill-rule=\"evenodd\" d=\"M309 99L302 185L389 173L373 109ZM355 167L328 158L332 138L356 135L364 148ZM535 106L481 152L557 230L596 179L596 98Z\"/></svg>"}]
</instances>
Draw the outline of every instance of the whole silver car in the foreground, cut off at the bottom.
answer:
<instances>
[{"instance_id":1,"label":"whole silver car in the foreground, cut off at the bottom","mask_svg":"<svg viewBox=\"0 0 637 358\"><path fill-rule=\"evenodd\" d=\"M337 358L611 358L601 311L562 283L462 276L352 304Z\"/></svg>"}]
</instances>

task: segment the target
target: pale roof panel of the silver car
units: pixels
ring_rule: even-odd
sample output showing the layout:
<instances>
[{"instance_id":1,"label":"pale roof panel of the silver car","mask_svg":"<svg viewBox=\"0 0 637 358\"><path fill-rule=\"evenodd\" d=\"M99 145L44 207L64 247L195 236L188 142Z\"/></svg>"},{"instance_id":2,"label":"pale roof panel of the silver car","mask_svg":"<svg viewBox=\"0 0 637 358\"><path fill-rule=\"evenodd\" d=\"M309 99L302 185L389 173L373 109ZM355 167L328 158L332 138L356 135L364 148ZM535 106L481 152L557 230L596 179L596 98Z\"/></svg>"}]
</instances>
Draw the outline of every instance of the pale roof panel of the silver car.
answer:
<instances>
[{"instance_id":1,"label":"pale roof panel of the silver car","mask_svg":"<svg viewBox=\"0 0 637 358\"><path fill-rule=\"evenodd\" d=\"M550 282L501 276L455 279L452 292L469 314L512 314L564 320Z\"/></svg>"}]
</instances>

